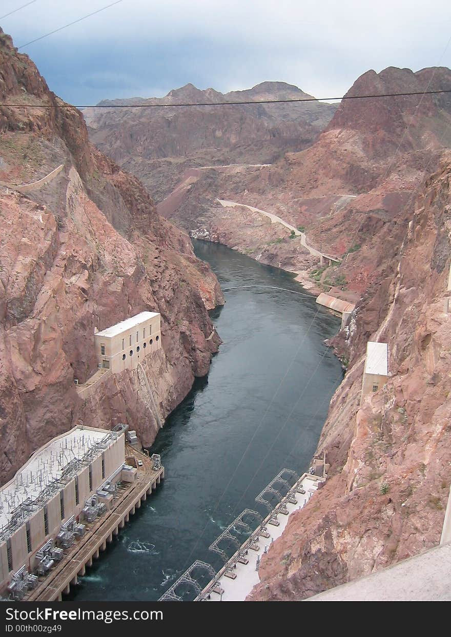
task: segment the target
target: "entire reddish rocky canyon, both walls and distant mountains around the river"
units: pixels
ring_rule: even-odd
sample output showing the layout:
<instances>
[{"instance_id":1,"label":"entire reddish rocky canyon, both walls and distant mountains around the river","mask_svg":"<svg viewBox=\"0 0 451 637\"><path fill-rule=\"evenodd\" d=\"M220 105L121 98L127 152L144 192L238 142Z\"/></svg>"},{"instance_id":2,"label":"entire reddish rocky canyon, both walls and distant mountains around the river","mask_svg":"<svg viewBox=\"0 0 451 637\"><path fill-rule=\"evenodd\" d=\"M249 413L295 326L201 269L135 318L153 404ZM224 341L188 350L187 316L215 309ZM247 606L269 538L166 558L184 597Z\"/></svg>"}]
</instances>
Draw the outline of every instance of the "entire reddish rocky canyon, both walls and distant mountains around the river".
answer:
<instances>
[{"instance_id":1,"label":"entire reddish rocky canyon, both walls and distant mountains around the river","mask_svg":"<svg viewBox=\"0 0 451 637\"><path fill-rule=\"evenodd\" d=\"M357 301L329 341L346 370L317 449L329 478L262 559L249 599L304 599L436 545L451 480L449 94L218 107L306 94L187 85L143 101L156 111L125 100L82 115L3 32L0 65L1 479L80 420L124 420L150 445L206 375L220 344L208 310L224 297L189 232ZM447 68L387 68L347 97L450 83ZM182 101L211 106L171 109ZM320 268L315 250L340 262ZM163 348L143 364L156 412L132 371L80 399L94 329L144 309L162 317ZM368 340L389 344L390 376L361 403Z\"/></svg>"}]
</instances>

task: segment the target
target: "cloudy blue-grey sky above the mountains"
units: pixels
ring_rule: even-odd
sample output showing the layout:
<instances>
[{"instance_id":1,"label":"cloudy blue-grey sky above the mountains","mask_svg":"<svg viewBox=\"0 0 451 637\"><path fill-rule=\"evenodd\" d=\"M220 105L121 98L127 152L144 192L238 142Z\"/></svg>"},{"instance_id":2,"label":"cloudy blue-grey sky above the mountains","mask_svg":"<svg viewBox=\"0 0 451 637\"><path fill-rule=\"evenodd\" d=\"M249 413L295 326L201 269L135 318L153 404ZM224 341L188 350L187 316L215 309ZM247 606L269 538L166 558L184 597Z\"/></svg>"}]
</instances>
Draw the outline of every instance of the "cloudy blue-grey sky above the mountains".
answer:
<instances>
[{"instance_id":1,"label":"cloudy blue-grey sky above the mountains","mask_svg":"<svg viewBox=\"0 0 451 637\"><path fill-rule=\"evenodd\" d=\"M2 0L0 15L29 0ZM20 47L113 0L35 0L0 20ZM266 80L343 95L368 71L451 66L449 0L122 0L21 48L73 104Z\"/></svg>"}]
</instances>

